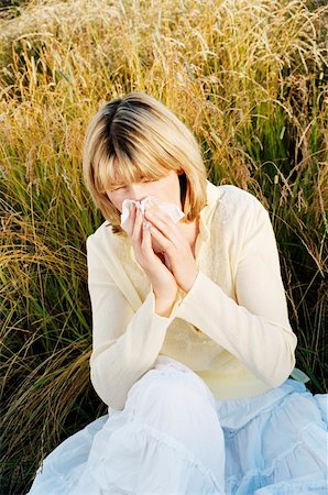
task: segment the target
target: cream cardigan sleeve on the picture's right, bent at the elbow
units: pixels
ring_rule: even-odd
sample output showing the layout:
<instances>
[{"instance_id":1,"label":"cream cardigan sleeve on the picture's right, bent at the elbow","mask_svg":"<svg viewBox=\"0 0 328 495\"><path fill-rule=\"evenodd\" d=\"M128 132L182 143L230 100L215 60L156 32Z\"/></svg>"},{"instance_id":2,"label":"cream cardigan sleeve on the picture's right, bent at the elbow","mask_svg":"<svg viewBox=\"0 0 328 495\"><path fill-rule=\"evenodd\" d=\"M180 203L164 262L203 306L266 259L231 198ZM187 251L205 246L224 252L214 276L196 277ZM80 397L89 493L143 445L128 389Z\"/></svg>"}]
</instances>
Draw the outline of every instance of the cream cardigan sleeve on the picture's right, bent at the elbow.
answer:
<instances>
[{"instance_id":1,"label":"cream cardigan sleeve on the picture's right, bent at the elbow","mask_svg":"<svg viewBox=\"0 0 328 495\"><path fill-rule=\"evenodd\" d=\"M176 316L276 387L294 369L296 336L288 321L275 235L269 212L255 197L247 201L237 223L231 241L238 246L231 248L238 253L233 262L237 301L200 271Z\"/></svg>"}]
</instances>

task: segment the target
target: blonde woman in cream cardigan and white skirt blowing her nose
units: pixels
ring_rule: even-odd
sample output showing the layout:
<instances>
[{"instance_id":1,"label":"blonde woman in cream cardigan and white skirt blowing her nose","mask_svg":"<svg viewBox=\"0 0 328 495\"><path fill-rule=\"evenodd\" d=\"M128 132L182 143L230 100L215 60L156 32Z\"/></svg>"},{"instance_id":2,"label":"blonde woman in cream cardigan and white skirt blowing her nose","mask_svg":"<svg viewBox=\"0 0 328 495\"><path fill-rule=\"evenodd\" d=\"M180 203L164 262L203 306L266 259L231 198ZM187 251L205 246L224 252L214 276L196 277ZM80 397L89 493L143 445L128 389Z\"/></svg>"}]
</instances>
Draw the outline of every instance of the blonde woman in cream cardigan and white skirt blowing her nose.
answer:
<instances>
[{"instance_id":1,"label":"blonde woman in cream cardigan and white skirt blowing her nose","mask_svg":"<svg viewBox=\"0 0 328 495\"><path fill-rule=\"evenodd\" d=\"M108 415L45 459L30 494L326 493L326 397L288 378L265 208L209 183L190 131L143 92L97 112L84 169L106 218L87 254Z\"/></svg>"}]
</instances>

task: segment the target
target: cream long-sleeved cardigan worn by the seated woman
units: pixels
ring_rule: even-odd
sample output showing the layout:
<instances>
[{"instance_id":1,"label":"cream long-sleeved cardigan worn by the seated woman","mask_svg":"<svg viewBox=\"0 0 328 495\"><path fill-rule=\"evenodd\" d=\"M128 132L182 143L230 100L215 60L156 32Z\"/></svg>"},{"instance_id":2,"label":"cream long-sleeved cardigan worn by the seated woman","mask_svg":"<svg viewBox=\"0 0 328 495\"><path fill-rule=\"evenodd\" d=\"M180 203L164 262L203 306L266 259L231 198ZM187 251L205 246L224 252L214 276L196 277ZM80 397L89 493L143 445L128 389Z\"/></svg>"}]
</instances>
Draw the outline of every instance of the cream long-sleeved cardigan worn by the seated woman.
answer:
<instances>
[{"instance_id":1,"label":"cream long-sleeved cardigan worn by the seated woman","mask_svg":"<svg viewBox=\"0 0 328 495\"><path fill-rule=\"evenodd\" d=\"M258 395L295 365L270 216L250 193L207 182L195 246L199 274L178 290L170 316L154 310L152 286L129 239L103 222L87 239L92 308L91 383L112 409L158 354L194 370L217 398Z\"/></svg>"}]
</instances>

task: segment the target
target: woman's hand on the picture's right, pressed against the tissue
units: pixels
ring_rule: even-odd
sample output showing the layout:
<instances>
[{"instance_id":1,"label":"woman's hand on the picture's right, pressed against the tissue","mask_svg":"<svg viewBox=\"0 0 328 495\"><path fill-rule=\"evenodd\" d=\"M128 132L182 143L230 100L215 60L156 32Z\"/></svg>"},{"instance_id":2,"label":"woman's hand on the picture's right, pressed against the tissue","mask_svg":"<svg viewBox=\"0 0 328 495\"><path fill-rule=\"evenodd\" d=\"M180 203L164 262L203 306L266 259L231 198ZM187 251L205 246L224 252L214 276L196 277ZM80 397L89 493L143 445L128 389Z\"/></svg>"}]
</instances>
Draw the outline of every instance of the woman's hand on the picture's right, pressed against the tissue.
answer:
<instances>
[{"instance_id":1,"label":"woman's hand on the picture's right, pressed against the tissue","mask_svg":"<svg viewBox=\"0 0 328 495\"><path fill-rule=\"evenodd\" d=\"M157 205L146 207L144 217L152 224L152 237L163 250L165 265L177 285L187 293L199 273L190 245L178 224Z\"/></svg>"}]
</instances>

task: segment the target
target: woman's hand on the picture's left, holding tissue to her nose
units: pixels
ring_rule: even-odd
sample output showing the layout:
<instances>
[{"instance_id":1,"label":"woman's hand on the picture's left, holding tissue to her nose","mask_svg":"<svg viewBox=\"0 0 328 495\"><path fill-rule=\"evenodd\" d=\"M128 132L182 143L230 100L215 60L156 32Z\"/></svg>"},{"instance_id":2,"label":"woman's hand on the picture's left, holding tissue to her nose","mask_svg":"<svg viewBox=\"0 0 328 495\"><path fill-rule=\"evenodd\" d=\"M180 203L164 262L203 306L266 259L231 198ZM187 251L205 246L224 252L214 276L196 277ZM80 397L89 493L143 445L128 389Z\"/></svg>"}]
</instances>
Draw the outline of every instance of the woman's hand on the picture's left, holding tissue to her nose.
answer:
<instances>
[{"instance_id":1,"label":"woman's hand on the picture's left, holding tissue to her nose","mask_svg":"<svg viewBox=\"0 0 328 495\"><path fill-rule=\"evenodd\" d=\"M164 304L173 304L177 292L177 283L174 275L154 252L151 232L143 227L143 221L142 212L135 205L132 205L127 233L135 260L150 279L156 299Z\"/></svg>"}]
</instances>

